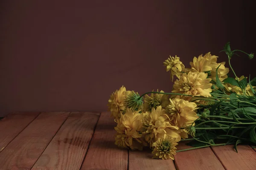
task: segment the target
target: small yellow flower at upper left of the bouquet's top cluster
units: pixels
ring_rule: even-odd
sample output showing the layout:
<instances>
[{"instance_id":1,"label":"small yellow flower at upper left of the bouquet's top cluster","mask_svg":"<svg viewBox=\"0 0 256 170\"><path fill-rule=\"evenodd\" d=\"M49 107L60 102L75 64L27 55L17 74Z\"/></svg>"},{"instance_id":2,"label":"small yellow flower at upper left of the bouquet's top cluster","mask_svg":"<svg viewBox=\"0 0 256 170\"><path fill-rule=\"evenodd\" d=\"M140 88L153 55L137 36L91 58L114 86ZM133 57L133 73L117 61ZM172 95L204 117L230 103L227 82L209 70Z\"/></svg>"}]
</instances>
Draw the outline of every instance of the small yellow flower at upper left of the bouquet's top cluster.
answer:
<instances>
[{"instance_id":1,"label":"small yellow flower at upper left of the bouquet's top cluster","mask_svg":"<svg viewBox=\"0 0 256 170\"><path fill-rule=\"evenodd\" d=\"M177 77L182 74L182 71L185 70L185 66L180 61L180 57L169 57L166 59L163 64L166 66L166 71L171 71L171 79L173 80L173 76Z\"/></svg>"}]
</instances>

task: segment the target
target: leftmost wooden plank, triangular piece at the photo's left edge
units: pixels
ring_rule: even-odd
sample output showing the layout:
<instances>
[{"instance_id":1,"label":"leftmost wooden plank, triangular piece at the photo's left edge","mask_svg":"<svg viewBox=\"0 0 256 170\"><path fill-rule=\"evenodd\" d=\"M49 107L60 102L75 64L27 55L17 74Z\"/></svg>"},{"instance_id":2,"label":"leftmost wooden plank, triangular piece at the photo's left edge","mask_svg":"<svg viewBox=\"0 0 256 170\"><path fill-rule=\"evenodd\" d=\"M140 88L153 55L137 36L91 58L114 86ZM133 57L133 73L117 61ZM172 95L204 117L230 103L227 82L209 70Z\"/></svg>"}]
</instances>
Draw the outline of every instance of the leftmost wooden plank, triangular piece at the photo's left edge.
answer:
<instances>
[{"instance_id":1,"label":"leftmost wooden plank, triangular piece at the photo's left edge","mask_svg":"<svg viewBox=\"0 0 256 170\"><path fill-rule=\"evenodd\" d=\"M24 128L32 122L39 112L10 113L0 121L0 152L9 144Z\"/></svg>"}]
</instances>

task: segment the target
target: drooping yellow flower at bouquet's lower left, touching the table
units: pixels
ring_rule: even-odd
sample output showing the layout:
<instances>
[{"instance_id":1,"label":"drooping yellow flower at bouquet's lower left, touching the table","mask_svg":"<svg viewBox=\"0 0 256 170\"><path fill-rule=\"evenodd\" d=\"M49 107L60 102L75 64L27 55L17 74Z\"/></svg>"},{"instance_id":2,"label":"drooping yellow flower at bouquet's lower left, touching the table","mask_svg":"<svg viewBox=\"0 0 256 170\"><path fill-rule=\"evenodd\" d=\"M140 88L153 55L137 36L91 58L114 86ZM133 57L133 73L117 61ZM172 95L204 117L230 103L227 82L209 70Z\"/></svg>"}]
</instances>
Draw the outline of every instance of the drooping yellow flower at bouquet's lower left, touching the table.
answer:
<instances>
[{"instance_id":1,"label":"drooping yellow flower at bouquet's lower left, touching the table","mask_svg":"<svg viewBox=\"0 0 256 170\"><path fill-rule=\"evenodd\" d=\"M125 114L121 114L120 119L117 120L116 142L115 144L122 148L130 147L132 150L142 150L143 142L140 140L142 134L140 129L142 127L142 120L144 114L139 111L131 111L127 108Z\"/></svg>"}]
</instances>

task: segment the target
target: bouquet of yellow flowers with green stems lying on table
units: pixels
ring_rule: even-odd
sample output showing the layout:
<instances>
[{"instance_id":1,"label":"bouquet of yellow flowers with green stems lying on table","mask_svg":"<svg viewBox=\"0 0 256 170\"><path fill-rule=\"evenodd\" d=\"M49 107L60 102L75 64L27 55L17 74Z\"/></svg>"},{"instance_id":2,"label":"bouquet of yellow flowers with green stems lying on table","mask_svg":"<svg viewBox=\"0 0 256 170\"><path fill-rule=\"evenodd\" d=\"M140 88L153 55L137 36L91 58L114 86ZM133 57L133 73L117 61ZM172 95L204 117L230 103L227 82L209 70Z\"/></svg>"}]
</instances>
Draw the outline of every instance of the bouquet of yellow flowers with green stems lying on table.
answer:
<instances>
[{"instance_id":1,"label":"bouquet of yellow flowers with green stems lying on table","mask_svg":"<svg viewBox=\"0 0 256 170\"><path fill-rule=\"evenodd\" d=\"M194 57L191 68L170 56L163 64L172 81L177 77L172 93L139 95L124 86L113 92L108 106L117 123L115 144L131 150L149 146L153 158L160 159L174 159L175 146L183 140L192 146L184 150L234 144L237 151L237 144L256 144L256 78L237 77L230 64L235 52L250 59L253 54L232 51L230 43L222 51L235 78L210 53Z\"/></svg>"}]
</instances>

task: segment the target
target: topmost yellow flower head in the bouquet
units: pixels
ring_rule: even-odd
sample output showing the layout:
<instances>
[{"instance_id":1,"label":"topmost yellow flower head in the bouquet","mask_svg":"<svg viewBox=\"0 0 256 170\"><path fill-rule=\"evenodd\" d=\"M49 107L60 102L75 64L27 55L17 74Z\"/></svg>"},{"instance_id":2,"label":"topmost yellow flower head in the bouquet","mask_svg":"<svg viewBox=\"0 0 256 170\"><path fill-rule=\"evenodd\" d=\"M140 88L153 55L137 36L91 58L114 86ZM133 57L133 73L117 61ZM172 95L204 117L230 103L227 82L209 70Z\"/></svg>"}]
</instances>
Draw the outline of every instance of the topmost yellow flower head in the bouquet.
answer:
<instances>
[{"instance_id":1,"label":"topmost yellow flower head in the bouquet","mask_svg":"<svg viewBox=\"0 0 256 170\"><path fill-rule=\"evenodd\" d=\"M191 68L196 72L211 71L213 66L217 64L217 56L212 56L209 53L200 55L198 58L194 57L193 62L190 62Z\"/></svg>"}]
</instances>

